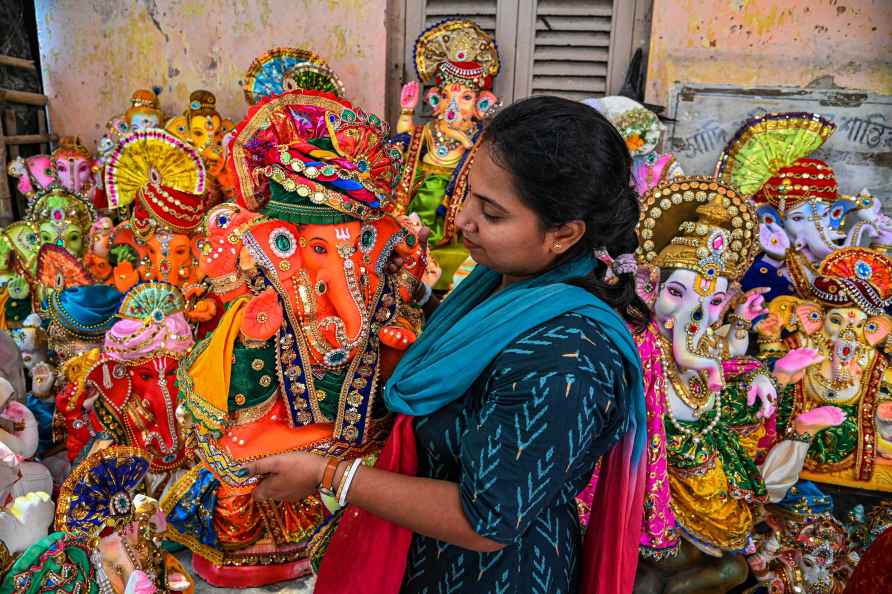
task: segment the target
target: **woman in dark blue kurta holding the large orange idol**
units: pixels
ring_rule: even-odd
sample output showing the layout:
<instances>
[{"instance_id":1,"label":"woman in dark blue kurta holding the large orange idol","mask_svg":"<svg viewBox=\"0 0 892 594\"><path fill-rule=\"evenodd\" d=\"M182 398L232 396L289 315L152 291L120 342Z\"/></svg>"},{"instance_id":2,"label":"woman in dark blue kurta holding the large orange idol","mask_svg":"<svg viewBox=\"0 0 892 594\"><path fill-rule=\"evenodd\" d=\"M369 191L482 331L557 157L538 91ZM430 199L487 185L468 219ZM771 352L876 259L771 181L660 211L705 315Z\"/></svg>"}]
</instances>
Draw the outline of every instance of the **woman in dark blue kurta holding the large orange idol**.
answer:
<instances>
[{"instance_id":1,"label":"woman in dark blue kurta holding the large orange idol","mask_svg":"<svg viewBox=\"0 0 892 594\"><path fill-rule=\"evenodd\" d=\"M378 467L304 453L248 467L266 475L255 497L321 485L351 504L317 591L576 592L593 567L588 583L618 591L605 576L624 574L630 588L644 411L626 322L643 327L647 310L633 270L593 256L625 264L637 247L629 167L613 126L580 103L527 99L488 124L457 218L479 266L388 382L404 416ZM581 558L574 499L624 434L603 482L626 491L603 501L628 505L589 532L612 552L631 538L631 568Z\"/></svg>"}]
</instances>

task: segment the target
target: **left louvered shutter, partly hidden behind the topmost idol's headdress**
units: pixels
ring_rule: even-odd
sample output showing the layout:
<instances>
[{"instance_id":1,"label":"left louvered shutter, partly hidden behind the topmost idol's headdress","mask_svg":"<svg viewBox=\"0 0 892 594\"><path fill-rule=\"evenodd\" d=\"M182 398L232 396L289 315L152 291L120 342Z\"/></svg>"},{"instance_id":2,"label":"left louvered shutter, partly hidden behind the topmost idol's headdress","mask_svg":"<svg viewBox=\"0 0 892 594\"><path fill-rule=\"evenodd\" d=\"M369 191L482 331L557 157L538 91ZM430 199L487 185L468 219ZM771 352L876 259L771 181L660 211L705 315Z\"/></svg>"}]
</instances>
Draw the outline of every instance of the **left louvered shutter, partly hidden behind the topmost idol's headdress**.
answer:
<instances>
[{"instance_id":1,"label":"left louvered shutter, partly hidden behind the topmost idol's headdress","mask_svg":"<svg viewBox=\"0 0 892 594\"><path fill-rule=\"evenodd\" d=\"M495 36L502 70L496 77L494 92L504 103L510 103L514 90L517 0L407 0L405 80L415 78L415 39L431 25L451 18L472 20Z\"/></svg>"}]
</instances>

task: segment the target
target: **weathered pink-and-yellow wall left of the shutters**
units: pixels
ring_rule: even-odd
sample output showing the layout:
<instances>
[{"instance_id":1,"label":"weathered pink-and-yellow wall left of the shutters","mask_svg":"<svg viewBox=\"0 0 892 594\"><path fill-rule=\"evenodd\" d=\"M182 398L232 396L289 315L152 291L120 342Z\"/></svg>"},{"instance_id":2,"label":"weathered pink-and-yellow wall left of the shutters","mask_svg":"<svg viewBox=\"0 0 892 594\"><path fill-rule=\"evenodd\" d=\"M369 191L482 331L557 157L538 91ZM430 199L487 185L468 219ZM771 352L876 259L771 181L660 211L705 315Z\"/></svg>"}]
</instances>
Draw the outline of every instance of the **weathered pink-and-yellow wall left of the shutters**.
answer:
<instances>
[{"instance_id":1,"label":"weathered pink-and-yellow wall left of the shutters","mask_svg":"<svg viewBox=\"0 0 892 594\"><path fill-rule=\"evenodd\" d=\"M241 79L279 46L320 54L347 95L383 114L387 0L35 0L49 115L60 135L93 147L138 88L160 87L164 111L189 92L217 95L219 111L247 110Z\"/></svg>"}]
</instances>

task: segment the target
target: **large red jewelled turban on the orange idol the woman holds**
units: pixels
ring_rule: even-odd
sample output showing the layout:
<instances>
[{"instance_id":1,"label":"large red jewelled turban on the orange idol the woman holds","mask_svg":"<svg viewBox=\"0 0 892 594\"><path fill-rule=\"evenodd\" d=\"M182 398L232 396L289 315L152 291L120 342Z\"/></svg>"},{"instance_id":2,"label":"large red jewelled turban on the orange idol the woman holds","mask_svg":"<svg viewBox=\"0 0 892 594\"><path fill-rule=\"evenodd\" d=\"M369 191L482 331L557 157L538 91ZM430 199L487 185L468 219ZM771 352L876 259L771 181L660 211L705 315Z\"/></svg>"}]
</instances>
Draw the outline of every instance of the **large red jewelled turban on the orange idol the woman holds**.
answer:
<instances>
[{"instance_id":1,"label":"large red jewelled turban on the orange idol the woman holds","mask_svg":"<svg viewBox=\"0 0 892 594\"><path fill-rule=\"evenodd\" d=\"M241 204L294 223L382 214L399 176L387 124L327 93L292 91L253 107L230 168Z\"/></svg>"}]
</instances>

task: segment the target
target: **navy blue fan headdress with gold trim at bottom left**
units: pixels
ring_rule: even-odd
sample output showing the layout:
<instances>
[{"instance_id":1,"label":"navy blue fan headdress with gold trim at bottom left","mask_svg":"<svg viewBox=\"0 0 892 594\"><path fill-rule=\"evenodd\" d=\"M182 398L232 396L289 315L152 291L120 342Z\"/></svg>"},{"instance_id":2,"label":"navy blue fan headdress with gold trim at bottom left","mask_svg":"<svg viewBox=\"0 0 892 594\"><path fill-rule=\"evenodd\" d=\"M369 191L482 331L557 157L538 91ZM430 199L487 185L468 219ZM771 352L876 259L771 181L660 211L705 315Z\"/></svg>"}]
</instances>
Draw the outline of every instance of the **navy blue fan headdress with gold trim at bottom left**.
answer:
<instances>
[{"instance_id":1,"label":"navy blue fan headdress with gold trim at bottom left","mask_svg":"<svg viewBox=\"0 0 892 594\"><path fill-rule=\"evenodd\" d=\"M149 470L146 453L113 446L95 452L65 479L56 504L56 530L87 537L129 522L133 496Z\"/></svg>"}]
</instances>

